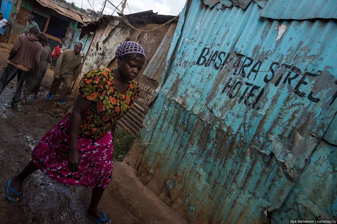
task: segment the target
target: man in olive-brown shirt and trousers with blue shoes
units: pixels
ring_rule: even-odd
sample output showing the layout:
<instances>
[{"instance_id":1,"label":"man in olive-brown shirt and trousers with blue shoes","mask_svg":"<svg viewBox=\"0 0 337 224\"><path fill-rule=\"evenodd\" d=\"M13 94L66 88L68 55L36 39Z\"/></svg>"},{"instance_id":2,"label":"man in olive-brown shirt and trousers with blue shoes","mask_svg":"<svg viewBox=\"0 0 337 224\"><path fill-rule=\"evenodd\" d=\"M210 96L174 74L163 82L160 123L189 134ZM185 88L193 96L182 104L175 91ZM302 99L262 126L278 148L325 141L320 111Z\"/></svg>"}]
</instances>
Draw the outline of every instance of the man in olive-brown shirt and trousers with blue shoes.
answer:
<instances>
[{"instance_id":1,"label":"man in olive-brown shirt and trousers with blue shoes","mask_svg":"<svg viewBox=\"0 0 337 224\"><path fill-rule=\"evenodd\" d=\"M70 90L71 83L78 76L82 57L80 52L82 50L82 43L76 42L74 49L65 50L62 52L60 57L57 59L54 80L50 85L49 93L47 94L46 100L51 100L52 95L55 95L59 86L63 85L62 91L58 98L59 103L66 104L65 96Z\"/></svg>"}]
</instances>

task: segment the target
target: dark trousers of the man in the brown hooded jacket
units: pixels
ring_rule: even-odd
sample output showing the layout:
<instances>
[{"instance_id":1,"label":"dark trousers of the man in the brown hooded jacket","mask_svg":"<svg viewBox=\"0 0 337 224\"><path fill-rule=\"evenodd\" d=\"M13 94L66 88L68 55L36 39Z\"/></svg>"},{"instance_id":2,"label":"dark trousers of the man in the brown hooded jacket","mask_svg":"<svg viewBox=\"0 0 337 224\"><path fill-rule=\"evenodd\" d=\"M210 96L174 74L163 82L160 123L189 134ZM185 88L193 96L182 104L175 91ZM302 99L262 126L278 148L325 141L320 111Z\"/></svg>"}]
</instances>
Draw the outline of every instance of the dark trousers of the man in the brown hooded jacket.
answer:
<instances>
[{"instance_id":1,"label":"dark trousers of the man in the brown hooded jacket","mask_svg":"<svg viewBox=\"0 0 337 224\"><path fill-rule=\"evenodd\" d=\"M15 77L16 74L18 74L18 82L17 82L17 89L15 91L15 94L14 94L14 97L11 103L12 105L19 103L23 83L26 80L28 71L23 71L19 68L14 67L11 64L8 64L5 70L3 71L3 74L0 79L0 94L1 94L2 91L8 85L8 83Z\"/></svg>"}]
</instances>

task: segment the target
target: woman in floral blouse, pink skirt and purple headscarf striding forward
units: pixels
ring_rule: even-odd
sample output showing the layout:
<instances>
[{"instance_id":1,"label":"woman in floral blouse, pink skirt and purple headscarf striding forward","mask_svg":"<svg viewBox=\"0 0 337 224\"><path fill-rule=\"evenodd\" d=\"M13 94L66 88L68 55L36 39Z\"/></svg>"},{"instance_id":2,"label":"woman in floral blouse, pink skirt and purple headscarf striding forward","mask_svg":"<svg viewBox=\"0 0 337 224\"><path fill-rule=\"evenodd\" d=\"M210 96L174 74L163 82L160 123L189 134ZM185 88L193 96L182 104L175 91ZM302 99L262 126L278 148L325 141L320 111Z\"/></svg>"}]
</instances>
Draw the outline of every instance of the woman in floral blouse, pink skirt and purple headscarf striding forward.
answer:
<instances>
[{"instance_id":1,"label":"woman in floral blouse, pink skirt and purple headscarf striding forward","mask_svg":"<svg viewBox=\"0 0 337 224\"><path fill-rule=\"evenodd\" d=\"M117 68L91 70L83 76L72 109L43 136L22 172L8 181L8 200L18 202L23 181L40 169L60 183L93 188L86 215L97 223L111 223L97 205L112 175L117 120L139 95L133 79L144 66L144 49L136 42L123 42L116 60Z\"/></svg>"}]
</instances>

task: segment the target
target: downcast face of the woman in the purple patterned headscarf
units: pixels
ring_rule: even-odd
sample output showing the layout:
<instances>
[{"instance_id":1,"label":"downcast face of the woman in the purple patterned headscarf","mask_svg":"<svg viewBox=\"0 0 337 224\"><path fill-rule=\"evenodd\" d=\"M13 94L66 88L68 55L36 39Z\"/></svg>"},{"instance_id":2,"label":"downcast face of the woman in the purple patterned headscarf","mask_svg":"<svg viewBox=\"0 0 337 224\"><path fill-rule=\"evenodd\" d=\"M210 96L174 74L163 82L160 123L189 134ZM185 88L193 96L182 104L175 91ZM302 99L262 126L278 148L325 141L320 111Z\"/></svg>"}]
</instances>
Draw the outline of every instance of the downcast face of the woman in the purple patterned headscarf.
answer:
<instances>
[{"instance_id":1,"label":"downcast face of the woman in the purple patterned headscarf","mask_svg":"<svg viewBox=\"0 0 337 224\"><path fill-rule=\"evenodd\" d=\"M123 79L131 81L135 79L142 70L145 63L145 57L120 57L118 59L118 69Z\"/></svg>"}]
</instances>

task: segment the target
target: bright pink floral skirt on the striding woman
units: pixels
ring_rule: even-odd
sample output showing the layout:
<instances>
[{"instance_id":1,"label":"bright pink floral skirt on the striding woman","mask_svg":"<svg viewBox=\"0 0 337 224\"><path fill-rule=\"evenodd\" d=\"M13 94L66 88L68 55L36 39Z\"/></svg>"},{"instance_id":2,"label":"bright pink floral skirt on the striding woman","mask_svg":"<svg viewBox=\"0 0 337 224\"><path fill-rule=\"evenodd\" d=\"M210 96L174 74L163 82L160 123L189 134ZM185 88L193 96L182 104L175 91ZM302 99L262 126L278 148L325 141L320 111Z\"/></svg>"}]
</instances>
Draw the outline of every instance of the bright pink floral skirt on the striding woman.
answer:
<instances>
[{"instance_id":1,"label":"bright pink floral skirt on the striding woman","mask_svg":"<svg viewBox=\"0 0 337 224\"><path fill-rule=\"evenodd\" d=\"M114 152L111 131L101 138L79 136L80 169L68 167L68 114L43 136L32 152L34 164L51 179L62 184L102 187L108 185L113 168Z\"/></svg>"}]
</instances>

